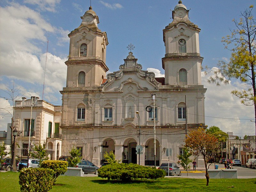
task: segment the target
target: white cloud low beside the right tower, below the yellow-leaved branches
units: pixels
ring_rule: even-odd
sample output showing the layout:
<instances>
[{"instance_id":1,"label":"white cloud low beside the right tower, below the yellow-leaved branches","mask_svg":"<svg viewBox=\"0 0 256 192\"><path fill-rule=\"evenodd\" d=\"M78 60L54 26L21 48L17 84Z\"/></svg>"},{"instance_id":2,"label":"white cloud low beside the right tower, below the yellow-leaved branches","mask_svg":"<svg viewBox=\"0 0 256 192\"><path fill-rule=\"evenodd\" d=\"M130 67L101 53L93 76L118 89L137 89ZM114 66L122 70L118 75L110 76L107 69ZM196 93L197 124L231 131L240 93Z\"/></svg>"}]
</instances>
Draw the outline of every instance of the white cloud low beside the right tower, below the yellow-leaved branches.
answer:
<instances>
[{"instance_id":1,"label":"white cloud low beside the right tower, below the yellow-leaved branches","mask_svg":"<svg viewBox=\"0 0 256 192\"><path fill-rule=\"evenodd\" d=\"M207 78L211 75L213 71L207 76L202 72L202 84L207 88L204 103L205 124L218 126L222 131L233 132L234 135L255 133L254 124L250 120L242 120L254 118L253 107L241 104L240 100L231 94L232 90L240 90L243 84L230 82L228 85L216 86L207 82Z\"/></svg>"}]
</instances>

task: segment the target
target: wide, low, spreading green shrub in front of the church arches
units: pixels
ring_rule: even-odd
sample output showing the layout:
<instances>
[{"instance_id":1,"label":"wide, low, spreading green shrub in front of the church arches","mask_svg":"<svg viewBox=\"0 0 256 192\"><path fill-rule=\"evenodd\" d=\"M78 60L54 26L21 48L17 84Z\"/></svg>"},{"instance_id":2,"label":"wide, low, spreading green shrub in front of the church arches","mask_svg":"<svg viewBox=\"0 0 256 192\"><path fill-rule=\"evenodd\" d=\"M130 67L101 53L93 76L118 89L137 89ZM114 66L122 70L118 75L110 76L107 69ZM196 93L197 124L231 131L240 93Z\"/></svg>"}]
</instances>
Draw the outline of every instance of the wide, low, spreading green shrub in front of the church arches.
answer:
<instances>
[{"instance_id":1,"label":"wide, low, spreading green shrub in front of the church arches","mask_svg":"<svg viewBox=\"0 0 256 192\"><path fill-rule=\"evenodd\" d=\"M164 178L165 172L162 169L145 167L138 164L108 164L98 170L98 177L108 180L131 181L137 179Z\"/></svg>"}]
</instances>

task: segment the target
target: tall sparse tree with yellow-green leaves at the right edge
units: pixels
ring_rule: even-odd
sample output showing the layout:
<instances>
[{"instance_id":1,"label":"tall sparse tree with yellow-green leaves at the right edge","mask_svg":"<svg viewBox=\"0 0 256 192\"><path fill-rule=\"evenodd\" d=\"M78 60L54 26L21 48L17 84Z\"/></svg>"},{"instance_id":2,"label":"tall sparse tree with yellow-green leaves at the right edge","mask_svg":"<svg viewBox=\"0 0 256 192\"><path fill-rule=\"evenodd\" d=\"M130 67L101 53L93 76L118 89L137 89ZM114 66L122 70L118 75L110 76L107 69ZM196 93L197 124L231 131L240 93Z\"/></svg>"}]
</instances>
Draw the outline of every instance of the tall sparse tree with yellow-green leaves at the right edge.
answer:
<instances>
[{"instance_id":1,"label":"tall sparse tree with yellow-green leaves at the right edge","mask_svg":"<svg viewBox=\"0 0 256 192\"><path fill-rule=\"evenodd\" d=\"M220 85L238 79L244 83L244 89L233 90L231 93L240 98L244 105L254 106L256 134L256 20L252 10L253 5L241 12L240 20L233 19L236 28L231 31L231 35L222 37L225 48L232 51L231 58L229 62L219 62L219 69L214 71L209 82ZM228 48L230 45L231 49Z\"/></svg>"}]
</instances>

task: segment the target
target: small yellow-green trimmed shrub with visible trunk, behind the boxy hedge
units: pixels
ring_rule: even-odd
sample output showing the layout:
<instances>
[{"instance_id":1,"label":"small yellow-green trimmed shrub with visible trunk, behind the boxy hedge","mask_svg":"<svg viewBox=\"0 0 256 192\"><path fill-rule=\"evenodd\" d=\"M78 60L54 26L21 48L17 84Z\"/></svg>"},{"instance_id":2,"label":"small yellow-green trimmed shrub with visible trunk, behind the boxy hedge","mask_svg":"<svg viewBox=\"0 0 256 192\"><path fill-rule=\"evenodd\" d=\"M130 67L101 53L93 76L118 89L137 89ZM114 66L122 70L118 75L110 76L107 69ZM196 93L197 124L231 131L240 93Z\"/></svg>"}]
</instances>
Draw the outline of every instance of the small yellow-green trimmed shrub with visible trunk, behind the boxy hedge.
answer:
<instances>
[{"instance_id":1,"label":"small yellow-green trimmed shrub with visible trunk, behind the boxy hedge","mask_svg":"<svg viewBox=\"0 0 256 192\"><path fill-rule=\"evenodd\" d=\"M49 168L54 171L53 179L54 182L60 175L64 174L68 170L68 162L67 161L59 161L59 160L46 160L41 163L42 168Z\"/></svg>"}]
</instances>

